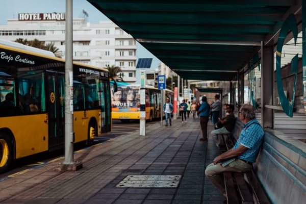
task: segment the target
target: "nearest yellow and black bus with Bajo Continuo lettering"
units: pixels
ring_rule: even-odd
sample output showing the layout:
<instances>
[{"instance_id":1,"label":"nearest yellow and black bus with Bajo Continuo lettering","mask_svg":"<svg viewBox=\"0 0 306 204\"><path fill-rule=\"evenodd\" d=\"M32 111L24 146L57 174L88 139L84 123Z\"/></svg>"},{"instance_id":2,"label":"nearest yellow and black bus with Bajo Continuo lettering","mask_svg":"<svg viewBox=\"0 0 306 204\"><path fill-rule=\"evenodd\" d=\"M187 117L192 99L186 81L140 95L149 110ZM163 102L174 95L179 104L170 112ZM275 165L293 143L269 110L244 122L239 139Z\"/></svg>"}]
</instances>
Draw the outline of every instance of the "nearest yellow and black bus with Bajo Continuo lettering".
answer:
<instances>
[{"instance_id":1,"label":"nearest yellow and black bus with Bajo Continuo lettering","mask_svg":"<svg viewBox=\"0 0 306 204\"><path fill-rule=\"evenodd\" d=\"M73 88L73 140L88 144L111 131L108 71L73 63ZM0 43L0 172L64 147L64 98L64 60Z\"/></svg>"}]
</instances>

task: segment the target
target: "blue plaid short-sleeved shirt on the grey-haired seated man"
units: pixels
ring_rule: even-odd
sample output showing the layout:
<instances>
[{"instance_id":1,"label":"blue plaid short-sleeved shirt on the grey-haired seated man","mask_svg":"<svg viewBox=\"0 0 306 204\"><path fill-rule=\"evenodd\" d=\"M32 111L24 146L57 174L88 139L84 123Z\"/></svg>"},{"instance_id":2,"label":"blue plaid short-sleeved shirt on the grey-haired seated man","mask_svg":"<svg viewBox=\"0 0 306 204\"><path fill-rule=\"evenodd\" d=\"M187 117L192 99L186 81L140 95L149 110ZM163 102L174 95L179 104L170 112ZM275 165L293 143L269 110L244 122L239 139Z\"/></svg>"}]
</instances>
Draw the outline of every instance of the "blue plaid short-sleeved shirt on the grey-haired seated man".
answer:
<instances>
[{"instance_id":1,"label":"blue plaid short-sleeved shirt on the grey-haired seated man","mask_svg":"<svg viewBox=\"0 0 306 204\"><path fill-rule=\"evenodd\" d=\"M256 161L263 138L263 128L256 119L244 124L239 139L237 140L233 149L237 149L241 144L247 147L247 150L237 158L254 163Z\"/></svg>"}]
</instances>

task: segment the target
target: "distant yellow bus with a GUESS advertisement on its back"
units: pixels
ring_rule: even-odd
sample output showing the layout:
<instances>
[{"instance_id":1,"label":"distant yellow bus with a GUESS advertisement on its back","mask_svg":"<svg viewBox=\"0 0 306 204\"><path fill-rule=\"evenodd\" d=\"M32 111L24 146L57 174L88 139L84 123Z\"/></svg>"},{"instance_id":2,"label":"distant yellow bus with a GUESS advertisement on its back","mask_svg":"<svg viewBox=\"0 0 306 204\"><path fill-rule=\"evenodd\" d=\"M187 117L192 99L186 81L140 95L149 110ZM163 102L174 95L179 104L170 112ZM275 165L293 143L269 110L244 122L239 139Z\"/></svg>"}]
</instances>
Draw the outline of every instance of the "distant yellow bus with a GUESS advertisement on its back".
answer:
<instances>
[{"instance_id":1,"label":"distant yellow bus with a GUESS advertisement on its back","mask_svg":"<svg viewBox=\"0 0 306 204\"><path fill-rule=\"evenodd\" d=\"M139 120L140 119L140 86L126 85L118 86L117 92L111 88L112 97L112 119ZM166 89L166 97L172 103L173 91ZM145 88L145 116L146 120L160 118L160 110L163 108L161 90L146 86Z\"/></svg>"}]
</instances>

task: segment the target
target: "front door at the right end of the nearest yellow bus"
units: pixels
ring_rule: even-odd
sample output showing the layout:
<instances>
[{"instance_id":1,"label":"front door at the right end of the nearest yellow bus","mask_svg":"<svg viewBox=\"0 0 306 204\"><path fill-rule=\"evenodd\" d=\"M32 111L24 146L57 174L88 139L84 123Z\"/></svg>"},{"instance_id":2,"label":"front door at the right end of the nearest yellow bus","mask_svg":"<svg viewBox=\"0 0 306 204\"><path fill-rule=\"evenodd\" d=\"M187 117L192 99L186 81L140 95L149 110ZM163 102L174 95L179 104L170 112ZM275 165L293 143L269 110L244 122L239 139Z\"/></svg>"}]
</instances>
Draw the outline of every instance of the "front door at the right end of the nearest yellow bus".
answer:
<instances>
[{"instance_id":1,"label":"front door at the right end of the nearest yellow bus","mask_svg":"<svg viewBox=\"0 0 306 204\"><path fill-rule=\"evenodd\" d=\"M111 98L110 84L108 81L100 81L100 100L101 100L101 132L111 131Z\"/></svg>"}]
</instances>

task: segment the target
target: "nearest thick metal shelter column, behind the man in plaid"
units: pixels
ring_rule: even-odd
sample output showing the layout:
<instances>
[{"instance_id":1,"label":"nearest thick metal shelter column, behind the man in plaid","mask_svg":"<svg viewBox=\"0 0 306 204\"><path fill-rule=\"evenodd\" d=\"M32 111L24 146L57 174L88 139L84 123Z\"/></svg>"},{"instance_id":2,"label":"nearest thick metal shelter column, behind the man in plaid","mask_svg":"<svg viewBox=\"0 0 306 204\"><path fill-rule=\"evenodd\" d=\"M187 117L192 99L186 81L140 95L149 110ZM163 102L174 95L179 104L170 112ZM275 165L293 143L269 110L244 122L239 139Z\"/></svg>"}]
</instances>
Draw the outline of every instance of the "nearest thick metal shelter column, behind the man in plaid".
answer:
<instances>
[{"instance_id":1,"label":"nearest thick metal shelter column, behind the man in plaid","mask_svg":"<svg viewBox=\"0 0 306 204\"><path fill-rule=\"evenodd\" d=\"M261 113L262 126L264 128L273 129L274 125L274 110L265 108L265 105L274 105L274 50L273 46L261 45Z\"/></svg>"}]
</instances>

